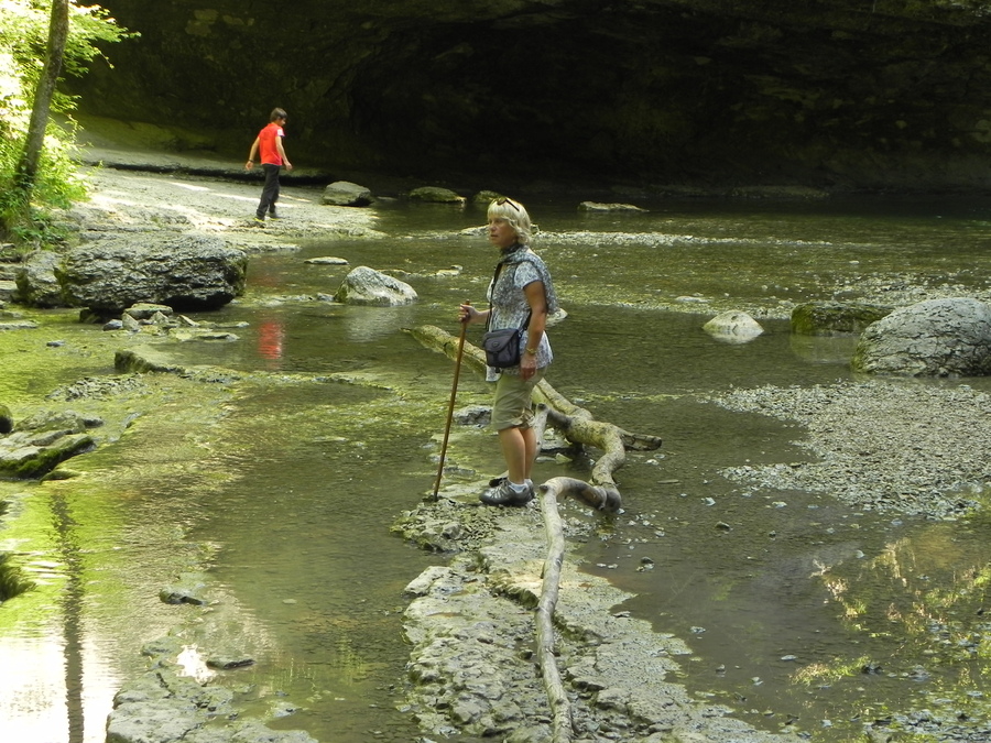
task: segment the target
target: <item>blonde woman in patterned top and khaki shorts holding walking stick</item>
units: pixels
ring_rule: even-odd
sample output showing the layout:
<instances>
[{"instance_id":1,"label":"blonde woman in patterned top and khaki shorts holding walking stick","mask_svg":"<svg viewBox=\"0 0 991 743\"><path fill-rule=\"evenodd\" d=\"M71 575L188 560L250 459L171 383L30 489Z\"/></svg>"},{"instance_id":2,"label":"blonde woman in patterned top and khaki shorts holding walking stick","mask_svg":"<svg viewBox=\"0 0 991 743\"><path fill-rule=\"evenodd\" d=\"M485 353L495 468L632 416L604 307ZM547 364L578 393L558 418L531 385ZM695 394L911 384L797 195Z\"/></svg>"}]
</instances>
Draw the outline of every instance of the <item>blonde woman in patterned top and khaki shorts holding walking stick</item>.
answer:
<instances>
[{"instance_id":1,"label":"blonde woman in patterned top and khaki shorts holding walking stick","mask_svg":"<svg viewBox=\"0 0 991 743\"><path fill-rule=\"evenodd\" d=\"M520 362L508 369L489 367L486 380L496 382L492 426L505 459L507 477L492 483L480 500L489 505L526 505L533 500L531 468L537 455L532 428L533 389L551 361L547 316L557 312L557 296L544 261L530 249L533 225L519 201L500 198L489 205L489 242L500 260L489 284L489 309L460 306L462 323L486 323L488 329L523 328Z\"/></svg>"}]
</instances>

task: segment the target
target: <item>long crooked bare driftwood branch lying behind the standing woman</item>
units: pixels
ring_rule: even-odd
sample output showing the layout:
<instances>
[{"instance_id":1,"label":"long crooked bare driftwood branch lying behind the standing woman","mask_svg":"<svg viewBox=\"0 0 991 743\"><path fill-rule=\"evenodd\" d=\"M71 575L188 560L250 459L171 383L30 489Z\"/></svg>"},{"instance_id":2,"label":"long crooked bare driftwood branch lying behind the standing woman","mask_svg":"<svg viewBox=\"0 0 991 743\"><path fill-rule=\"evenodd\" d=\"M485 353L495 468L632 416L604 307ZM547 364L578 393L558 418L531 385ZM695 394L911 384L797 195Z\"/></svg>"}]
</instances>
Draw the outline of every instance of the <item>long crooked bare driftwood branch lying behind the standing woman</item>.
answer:
<instances>
[{"instance_id":1,"label":"long crooked bare driftwood branch lying behind the standing woman","mask_svg":"<svg viewBox=\"0 0 991 743\"><path fill-rule=\"evenodd\" d=\"M462 343L460 338L432 325L410 330L421 343L446 353L460 362L484 372L484 352L471 343ZM547 557L544 561L541 598L537 602L536 645L537 662L547 701L553 714L553 743L570 743L574 739L574 722L568 695L560 680L560 671L554 654L554 610L560 586L560 570L565 555L564 527L557 511L557 501L567 495L606 512L617 512L622 506L622 498L612 473L627 461L627 449L650 451L661 446L656 436L631 434L609 423L592 418L591 413L578 407L554 387L541 380L534 390L537 411L534 431L537 441L543 442L544 430L553 426L573 444L593 446L605 452L592 467L589 482L575 478L552 478L540 485L541 512L547 534ZM540 450L540 447L537 447ZM443 468L443 462L442 462Z\"/></svg>"}]
</instances>

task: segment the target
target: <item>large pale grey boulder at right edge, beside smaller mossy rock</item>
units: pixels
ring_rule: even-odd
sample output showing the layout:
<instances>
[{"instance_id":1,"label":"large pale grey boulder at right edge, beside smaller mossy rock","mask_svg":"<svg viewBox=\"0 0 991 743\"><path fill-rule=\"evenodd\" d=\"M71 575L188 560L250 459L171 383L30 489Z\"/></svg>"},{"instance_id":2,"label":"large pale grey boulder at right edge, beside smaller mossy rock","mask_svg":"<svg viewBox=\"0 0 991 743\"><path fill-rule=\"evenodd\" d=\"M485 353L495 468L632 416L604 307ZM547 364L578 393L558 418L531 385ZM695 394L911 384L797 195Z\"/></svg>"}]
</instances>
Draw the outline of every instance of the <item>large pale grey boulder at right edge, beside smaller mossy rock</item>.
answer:
<instances>
[{"instance_id":1,"label":"large pale grey boulder at right edge, beside smaller mossy rock","mask_svg":"<svg viewBox=\"0 0 991 743\"><path fill-rule=\"evenodd\" d=\"M991 374L991 307L956 298L896 309L861 334L852 365L907 376Z\"/></svg>"}]
</instances>

